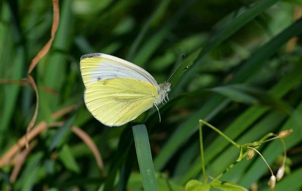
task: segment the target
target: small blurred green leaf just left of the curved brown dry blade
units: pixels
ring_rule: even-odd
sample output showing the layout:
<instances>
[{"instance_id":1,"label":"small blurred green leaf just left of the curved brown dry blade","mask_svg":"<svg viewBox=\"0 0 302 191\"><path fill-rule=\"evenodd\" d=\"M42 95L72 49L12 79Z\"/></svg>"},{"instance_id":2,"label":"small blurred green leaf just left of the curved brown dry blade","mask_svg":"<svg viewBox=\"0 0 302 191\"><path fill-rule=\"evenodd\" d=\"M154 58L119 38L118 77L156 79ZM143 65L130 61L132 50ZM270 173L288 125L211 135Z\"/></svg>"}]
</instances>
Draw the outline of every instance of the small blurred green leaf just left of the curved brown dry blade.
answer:
<instances>
[{"instance_id":1,"label":"small blurred green leaf just left of the curved brown dry blade","mask_svg":"<svg viewBox=\"0 0 302 191\"><path fill-rule=\"evenodd\" d=\"M77 161L75 161L68 145L63 145L59 152L59 159L63 162L67 169L77 173L80 172L80 167Z\"/></svg>"}]
</instances>

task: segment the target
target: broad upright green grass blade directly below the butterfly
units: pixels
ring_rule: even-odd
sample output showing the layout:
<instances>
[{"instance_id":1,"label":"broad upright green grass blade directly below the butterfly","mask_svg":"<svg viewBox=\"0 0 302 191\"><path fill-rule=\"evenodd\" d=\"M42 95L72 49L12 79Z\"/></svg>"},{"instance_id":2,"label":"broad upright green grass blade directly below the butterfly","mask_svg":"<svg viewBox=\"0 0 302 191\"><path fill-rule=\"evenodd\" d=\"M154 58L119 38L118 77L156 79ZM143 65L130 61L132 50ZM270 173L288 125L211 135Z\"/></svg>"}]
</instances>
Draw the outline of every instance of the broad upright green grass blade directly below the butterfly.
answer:
<instances>
[{"instance_id":1,"label":"broad upright green grass blade directly below the butterfly","mask_svg":"<svg viewBox=\"0 0 302 191\"><path fill-rule=\"evenodd\" d=\"M146 126L135 125L132 131L143 188L146 191L158 190Z\"/></svg>"}]
</instances>

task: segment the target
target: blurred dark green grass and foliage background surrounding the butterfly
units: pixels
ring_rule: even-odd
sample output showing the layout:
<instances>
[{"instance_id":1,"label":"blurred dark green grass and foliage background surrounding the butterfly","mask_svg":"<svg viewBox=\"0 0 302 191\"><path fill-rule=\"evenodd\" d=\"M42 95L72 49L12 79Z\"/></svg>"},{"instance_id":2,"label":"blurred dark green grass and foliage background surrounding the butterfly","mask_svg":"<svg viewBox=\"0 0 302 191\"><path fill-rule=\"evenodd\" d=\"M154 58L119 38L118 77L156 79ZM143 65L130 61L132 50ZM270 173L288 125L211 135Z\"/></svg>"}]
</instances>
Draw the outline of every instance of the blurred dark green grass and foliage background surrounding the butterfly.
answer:
<instances>
[{"instance_id":1,"label":"blurred dark green grass and foliage background surrounding the butterfly","mask_svg":"<svg viewBox=\"0 0 302 191\"><path fill-rule=\"evenodd\" d=\"M285 139L286 174L275 190L301 190L302 1L61 0L59 5L56 37L32 75L40 97L36 125L64 123L34 138L14 181L16 163L1 166L1 190L143 189L131 123L104 127L83 104L79 62L92 52L131 61L159 83L186 55L181 68L189 69L172 80L174 99L161 107L162 122L153 110L135 120L147 127L159 190L184 190L188 180L201 178L199 119L241 144L292 128ZM52 15L50 0L0 0L1 79L27 77L31 60L50 38ZM0 156L26 133L35 103L31 86L0 84ZM54 117L70 106L76 107ZM93 139L104 169L71 126ZM214 177L239 152L210 129L203 135L207 175ZM281 143L259 149L276 172ZM255 156L221 180L268 190L269 177Z\"/></svg>"}]
</instances>

